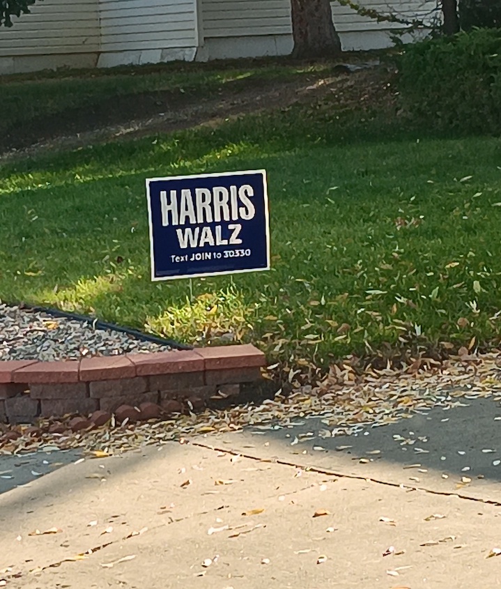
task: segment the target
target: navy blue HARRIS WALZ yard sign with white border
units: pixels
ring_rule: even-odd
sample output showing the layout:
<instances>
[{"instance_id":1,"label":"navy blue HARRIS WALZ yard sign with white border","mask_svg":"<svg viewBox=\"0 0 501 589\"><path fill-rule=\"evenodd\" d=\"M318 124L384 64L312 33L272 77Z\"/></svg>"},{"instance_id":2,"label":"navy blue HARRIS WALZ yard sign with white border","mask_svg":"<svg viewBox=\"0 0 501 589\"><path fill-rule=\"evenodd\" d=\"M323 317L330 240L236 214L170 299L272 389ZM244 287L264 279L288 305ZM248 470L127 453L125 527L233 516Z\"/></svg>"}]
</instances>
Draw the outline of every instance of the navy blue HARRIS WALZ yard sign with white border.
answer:
<instances>
[{"instance_id":1,"label":"navy blue HARRIS WALZ yard sign with white border","mask_svg":"<svg viewBox=\"0 0 501 589\"><path fill-rule=\"evenodd\" d=\"M270 269L264 170L146 180L151 280Z\"/></svg>"}]
</instances>

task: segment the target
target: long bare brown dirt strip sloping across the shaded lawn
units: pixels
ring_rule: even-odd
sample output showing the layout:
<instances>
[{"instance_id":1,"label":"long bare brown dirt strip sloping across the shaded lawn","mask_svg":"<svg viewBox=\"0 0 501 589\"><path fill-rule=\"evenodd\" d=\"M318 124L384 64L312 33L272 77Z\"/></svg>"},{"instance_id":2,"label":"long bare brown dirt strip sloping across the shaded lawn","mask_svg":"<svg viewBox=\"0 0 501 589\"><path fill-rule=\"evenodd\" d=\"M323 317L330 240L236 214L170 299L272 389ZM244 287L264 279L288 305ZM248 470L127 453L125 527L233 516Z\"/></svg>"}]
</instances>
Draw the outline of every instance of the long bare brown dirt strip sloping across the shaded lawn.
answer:
<instances>
[{"instance_id":1,"label":"long bare brown dirt strip sloping across the shaded lawn","mask_svg":"<svg viewBox=\"0 0 501 589\"><path fill-rule=\"evenodd\" d=\"M346 106L378 102L390 73L369 66L350 70L336 66L328 75L311 72L298 79L241 79L219 89L159 91L118 95L85 109L70 109L18 125L0 138L3 160L54 148L77 148L120 137L141 137L226 118L288 107L298 101L334 96Z\"/></svg>"}]
</instances>

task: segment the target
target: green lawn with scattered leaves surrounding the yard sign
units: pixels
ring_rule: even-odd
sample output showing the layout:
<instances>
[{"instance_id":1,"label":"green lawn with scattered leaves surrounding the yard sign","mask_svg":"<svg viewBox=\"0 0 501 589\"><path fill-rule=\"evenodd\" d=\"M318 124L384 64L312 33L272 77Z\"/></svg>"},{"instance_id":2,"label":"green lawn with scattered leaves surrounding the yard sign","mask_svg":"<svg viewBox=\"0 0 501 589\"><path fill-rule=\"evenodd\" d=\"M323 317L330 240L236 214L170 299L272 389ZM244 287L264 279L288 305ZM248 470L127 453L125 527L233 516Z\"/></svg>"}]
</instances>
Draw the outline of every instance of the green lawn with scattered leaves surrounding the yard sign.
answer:
<instances>
[{"instance_id":1,"label":"green lawn with scattered leaves surrounding the yard sign","mask_svg":"<svg viewBox=\"0 0 501 589\"><path fill-rule=\"evenodd\" d=\"M3 165L0 298L183 342L231 332L270 362L326 365L419 334L497 343L498 139L364 118L333 97ZM144 178L256 168L268 171L272 270L150 282Z\"/></svg>"}]
</instances>

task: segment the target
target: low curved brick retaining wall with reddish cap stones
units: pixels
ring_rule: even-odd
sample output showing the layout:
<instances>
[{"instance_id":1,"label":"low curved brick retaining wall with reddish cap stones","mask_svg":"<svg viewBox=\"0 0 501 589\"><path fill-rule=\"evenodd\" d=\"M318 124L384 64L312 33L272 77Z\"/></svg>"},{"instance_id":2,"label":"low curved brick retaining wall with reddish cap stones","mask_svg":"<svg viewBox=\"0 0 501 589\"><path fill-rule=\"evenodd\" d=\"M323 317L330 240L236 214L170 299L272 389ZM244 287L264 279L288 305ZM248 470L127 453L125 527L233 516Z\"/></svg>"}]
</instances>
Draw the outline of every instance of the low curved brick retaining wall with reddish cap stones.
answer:
<instances>
[{"instance_id":1,"label":"low curved brick retaining wall with reddish cap stones","mask_svg":"<svg viewBox=\"0 0 501 589\"><path fill-rule=\"evenodd\" d=\"M194 351L136 353L61 362L0 362L0 421L116 413L141 420L199 410L218 391L237 395L259 381L265 355L250 344Z\"/></svg>"}]
</instances>

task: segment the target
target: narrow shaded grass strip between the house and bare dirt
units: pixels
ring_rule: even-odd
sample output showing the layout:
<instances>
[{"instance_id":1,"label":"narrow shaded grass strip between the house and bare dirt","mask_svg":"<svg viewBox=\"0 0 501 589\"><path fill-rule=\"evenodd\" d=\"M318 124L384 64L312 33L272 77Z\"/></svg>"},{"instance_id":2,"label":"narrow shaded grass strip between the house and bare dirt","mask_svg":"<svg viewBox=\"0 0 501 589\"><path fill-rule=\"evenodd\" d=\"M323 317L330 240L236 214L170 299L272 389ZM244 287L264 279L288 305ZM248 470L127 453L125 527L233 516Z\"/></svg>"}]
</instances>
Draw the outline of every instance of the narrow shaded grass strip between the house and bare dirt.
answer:
<instances>
[{"instance_id":1,"label":"narrow shaded grass strip between the house and bare dirt","mask_svg":"<svg viewBox=\"0 0 501 589\"><path fill-rule=\"evenodd\" d=\"M150 95L157 100L157 110L182 104L196 95L210 98L220 93L242 91L253 84L269 80L281 82L305 77L311 72L329 68L329 64L300 66L271 64L242 68L220 66L210 68L206 64L167 64L165 66L141 66L112 68L111 70L82 70L79 75L68 72L43 72L38 75L13 75L0 79L2 111L0 133L15 130L18 125L47 116L72 116L79 109L92 114L95 107L116 98ZM165 98L167 95L167 105ZM126 116L126 115L125 115ZM146 115L148 116L148 115Z\"/></svg>"}]
</instances>

